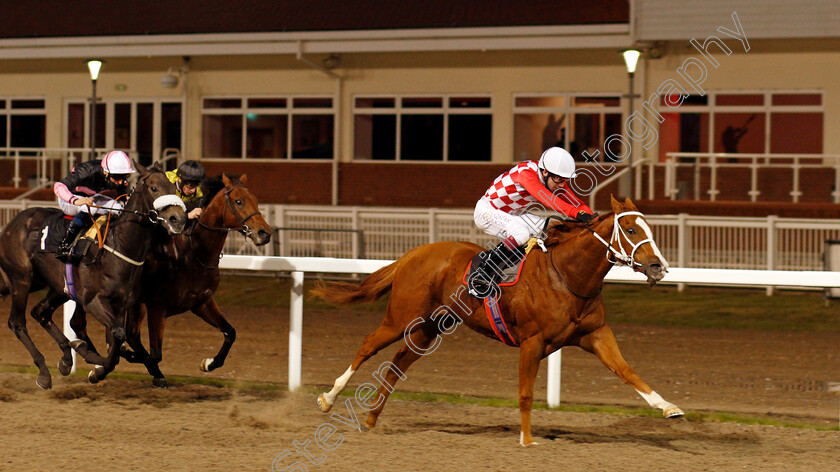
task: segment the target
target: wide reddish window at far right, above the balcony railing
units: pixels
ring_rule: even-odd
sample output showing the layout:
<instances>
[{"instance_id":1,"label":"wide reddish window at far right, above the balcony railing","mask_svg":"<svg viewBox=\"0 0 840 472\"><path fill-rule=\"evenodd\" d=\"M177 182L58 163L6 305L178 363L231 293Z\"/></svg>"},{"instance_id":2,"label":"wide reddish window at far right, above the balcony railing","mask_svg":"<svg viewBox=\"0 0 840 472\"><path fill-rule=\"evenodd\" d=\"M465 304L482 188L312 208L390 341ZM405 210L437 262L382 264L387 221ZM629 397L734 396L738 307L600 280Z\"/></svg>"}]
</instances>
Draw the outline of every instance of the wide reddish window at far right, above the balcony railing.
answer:
<instances>
[{"instance_id":1,"label":"wide reddish window at far right, above the balcony railing","mask_svg":"<svg viewBox=\"0 0 840 472\"><path fill-rule=\"evenodd\" d=\"M709 92L663 96L659 152L820 154L821 92Z\"/></svg>"}]
</instances>

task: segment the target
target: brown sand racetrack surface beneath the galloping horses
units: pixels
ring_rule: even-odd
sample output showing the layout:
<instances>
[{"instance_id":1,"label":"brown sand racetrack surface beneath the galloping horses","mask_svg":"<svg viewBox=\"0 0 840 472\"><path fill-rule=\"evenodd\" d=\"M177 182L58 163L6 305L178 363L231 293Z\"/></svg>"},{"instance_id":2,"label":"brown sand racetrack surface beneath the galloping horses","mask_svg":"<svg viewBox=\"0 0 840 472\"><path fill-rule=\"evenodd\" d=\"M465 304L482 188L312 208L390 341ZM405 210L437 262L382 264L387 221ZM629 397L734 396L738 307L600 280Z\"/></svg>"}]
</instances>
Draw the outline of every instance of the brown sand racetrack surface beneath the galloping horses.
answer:
<instances>
[{"instance_id":1,"label":"brown sand racetrack surface beneath the galloping horses","mask_svg":"<svg viewBox=\"0 0 840 472\"><path fill-rule=\"evenodd\" d=\"M288 312L223 309L238 331L227 363L212 373L199 372L201 360L216 353L222 338L187 314L167 324L164 373L285 384ZM5 316L8 310L8 299L0 301L0 313ZM308 309L303 353L307 388L298 393L177 380L160 390L150 379L127 378L89 385L83 376L60 377L56 372L53 389L42 391L35 386L34 373L17 371L16 366L32 363L4 329L0 470L269 471L275 459L275 470L310 471L840 468L837 431L621 414L536 410L532 422L539 445L522 448L516 408L392 399L377 428L361 433L345 424L352 423L353 413L360 421L365 418L358 405L348 411L343 402L350 397L340 397L333 409L336 416L330 417L317 410L310 387L331 385L381 317L365 310ZM57 347L40 326L28 322L48 364L55 365ZM103 339L100 328L91 328L94 341ZM837 425L840 394L830 391L831 383L840 381L837 333L640 325L614 325L613 330L642 379L686 412ZM360 369L348 391L375 382L374 368L390 360L396 349L384 350ZM517 352L458 329L412 366L397 391L515 399ZM123 361L117 372L145 370ZM564 349L562 382L564 404L646 406L600 361L579 349ZM545 399L545 384L543 365L537 400ZM316 445L316 434L328 450ZM296 452L296 441L310 459Z\"/></svg>"}]
</instances>

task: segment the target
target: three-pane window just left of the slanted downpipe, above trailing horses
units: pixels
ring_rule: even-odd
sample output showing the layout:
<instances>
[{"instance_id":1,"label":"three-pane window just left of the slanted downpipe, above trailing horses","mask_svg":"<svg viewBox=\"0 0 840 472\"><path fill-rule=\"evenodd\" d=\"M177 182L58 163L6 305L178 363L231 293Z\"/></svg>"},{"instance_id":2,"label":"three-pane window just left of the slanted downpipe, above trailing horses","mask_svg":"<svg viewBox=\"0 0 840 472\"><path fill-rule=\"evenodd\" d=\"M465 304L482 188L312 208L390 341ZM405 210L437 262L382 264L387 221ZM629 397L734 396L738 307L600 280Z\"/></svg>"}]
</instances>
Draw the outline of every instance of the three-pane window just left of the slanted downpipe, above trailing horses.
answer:
<instances>
[{"instance_id":1,"label":"three-pane window just left of the slanted downpipe, above trailing horses","mask_svg":"<svg viewBox=\"0 0 840 472\"><path fill-rule=\"evenodd\" d=\"M205 158L332 159L332 97L207 97Z\"/></svg>"}]
</instances>

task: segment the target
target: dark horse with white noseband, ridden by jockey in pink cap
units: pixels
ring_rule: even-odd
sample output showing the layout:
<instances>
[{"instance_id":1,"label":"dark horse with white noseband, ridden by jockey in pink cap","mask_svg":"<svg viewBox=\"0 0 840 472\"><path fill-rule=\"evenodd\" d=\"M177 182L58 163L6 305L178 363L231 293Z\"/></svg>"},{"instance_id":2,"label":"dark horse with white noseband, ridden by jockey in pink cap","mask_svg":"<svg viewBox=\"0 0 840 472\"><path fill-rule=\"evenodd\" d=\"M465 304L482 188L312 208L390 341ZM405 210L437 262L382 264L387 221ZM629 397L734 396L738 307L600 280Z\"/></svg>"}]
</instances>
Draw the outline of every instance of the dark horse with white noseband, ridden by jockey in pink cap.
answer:
<instances>
[{"instance_id":1,"label":"dark horse with white noseband, ridden by jockey in pink cap","mask_svg":"<svg viewBox=\"0 0 840 472\"><path fill-rule=\"evenodd\" d=\"M161 223L171 234L180 233L186 223L184 206L175 196L175 185L155 165L146 169L134 163L140 173L137 186L126 202L122 214L110 223L105 246L92 261L83 261L73 268L76 305L91 313L107 327L110 339L108 354L102 358L88 351L84 343L73 347L91 364L98 364L88 378L92 383L103 379L119 362L125 340L125 311L140 293L140 272L151 234ZM44 221L61 210L30 208L20 212L0 234L0 295L11 293L12 310L9 328L26 346L39 374L36 383L43 389L52 387L52 378L44 356L35 347L26 329L26 304L29 293L47 287L47 296L33 309L32 317L58 342L63 353L58 368L63 375L72 366L71 343L52 321L55 309L69 300L65 294L63 262L55 254L38 252L39 238L32 237ZM93 252L93 250L91 250Z\"/></svg>"}]
</instances>

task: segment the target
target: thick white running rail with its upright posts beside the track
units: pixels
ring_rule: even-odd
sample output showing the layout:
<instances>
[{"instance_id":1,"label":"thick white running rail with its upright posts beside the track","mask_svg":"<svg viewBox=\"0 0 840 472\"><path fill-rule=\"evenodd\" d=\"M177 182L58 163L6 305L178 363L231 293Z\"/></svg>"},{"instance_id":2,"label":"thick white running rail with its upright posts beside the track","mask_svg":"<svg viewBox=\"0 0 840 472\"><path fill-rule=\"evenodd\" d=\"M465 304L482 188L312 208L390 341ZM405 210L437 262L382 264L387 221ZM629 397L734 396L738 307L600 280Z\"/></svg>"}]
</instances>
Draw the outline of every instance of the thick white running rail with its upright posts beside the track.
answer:
<instances>
[{"instance_id":1,"label":"thick white running rail with its upright posts beside the track","mask_svg":"<svg viewBox=\"0 0 840 472\"><path fill-rule=\"evenodd\" d=\"M301 358L303 346L303 282L305 273L358 273L370 274L393 261L370 259L337 259L306 257L227 256L221 260L222 269L262 272L290 272L292 276L291 301L289 308L289 389L301 386ZM627 267L617 267L606 277L607 282L646 283L644 275ZM749 285L776 287L840 287L840 272L827 271L766 271L766 270L724 270L672 268L660 283L689 283L707 285ZM70 317L75 304L64 305L64 333L74 339L70 328ZM73 368L76 353L73 353ZM547 398L549 406L560 404L561 352L548 357Z\"/></svg>"}]
</instances>

